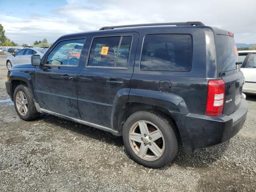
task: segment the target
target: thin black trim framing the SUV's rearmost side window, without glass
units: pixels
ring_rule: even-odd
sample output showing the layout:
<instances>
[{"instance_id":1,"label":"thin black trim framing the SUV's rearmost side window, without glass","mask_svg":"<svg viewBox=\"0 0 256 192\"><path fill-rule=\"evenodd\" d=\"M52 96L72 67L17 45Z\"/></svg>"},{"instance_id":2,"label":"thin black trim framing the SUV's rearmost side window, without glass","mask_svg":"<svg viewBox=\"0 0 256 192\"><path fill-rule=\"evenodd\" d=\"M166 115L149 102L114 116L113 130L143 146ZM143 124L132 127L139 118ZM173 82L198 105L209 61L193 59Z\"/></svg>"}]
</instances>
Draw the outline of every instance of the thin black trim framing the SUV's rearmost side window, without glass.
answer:
<instances>
[{"instance_id":1,"label":"thin black trim framing the SUV's rearmost side window, without glass","mask_svg":"<svg viewBox=\"0 0 256 192\"><path fill-rule=\"evenodd\" d=\"M149 69L141 69L140 68L140 64L141 64L141 58L142 58L142 50L143 50L143 46L144 46L144 40L146 38L147 35L189 35L191 37L191 60L190 60L190 69L188 71L169 71L169 70L149 70ZM166 72L189 72L192 69L192 59L193 59L193 36L191 34L188 33L148 33L146 35L144 35L143 40L142 40L142 46L141 46L141 50L140 50L140 62L139 62L139 70L140 71L166 71Z\"/></svg>"}]
</instances>

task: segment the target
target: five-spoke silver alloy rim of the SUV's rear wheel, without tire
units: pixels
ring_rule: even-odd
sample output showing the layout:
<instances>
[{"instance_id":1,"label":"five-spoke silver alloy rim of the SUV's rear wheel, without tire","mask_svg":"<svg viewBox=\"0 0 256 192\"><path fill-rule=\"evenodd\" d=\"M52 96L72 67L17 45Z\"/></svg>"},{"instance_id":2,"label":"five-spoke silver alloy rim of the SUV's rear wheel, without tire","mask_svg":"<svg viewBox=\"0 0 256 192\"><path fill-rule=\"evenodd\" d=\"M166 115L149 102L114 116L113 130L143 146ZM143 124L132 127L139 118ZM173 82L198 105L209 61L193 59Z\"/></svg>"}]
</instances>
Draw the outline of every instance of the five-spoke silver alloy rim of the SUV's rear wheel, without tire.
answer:
<instances>
[{"instance_id":1,"label":"five-spoke silver alloy rim of the SUV's rear wheel, without tire","mask_svg":"<svg viewBox=\"0 0 256 192\"><path fill-rule=\"evenodd\" d=\"M154 161L164 153L164 136L160 129L149 121L141 120L131 126L129 143L134 153L143 160Z\"/></svg>"}]
</instances>

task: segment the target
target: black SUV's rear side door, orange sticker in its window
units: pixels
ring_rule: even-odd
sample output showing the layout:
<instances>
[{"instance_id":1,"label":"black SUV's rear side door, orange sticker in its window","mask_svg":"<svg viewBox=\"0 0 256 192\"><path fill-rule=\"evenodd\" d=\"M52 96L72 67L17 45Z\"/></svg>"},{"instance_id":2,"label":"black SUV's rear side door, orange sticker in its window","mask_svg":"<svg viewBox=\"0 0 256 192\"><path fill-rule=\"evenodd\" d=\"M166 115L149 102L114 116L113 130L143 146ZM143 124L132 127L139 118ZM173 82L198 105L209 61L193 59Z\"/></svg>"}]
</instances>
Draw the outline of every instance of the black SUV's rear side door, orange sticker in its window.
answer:
<instances>
[{"instance_id":1,"label":"black SUV's rear side door, orange sticker in its window","mask_svg":"<svg viewBox=\"0 0 256 192\"><path fill-rule=\"evenodd\" d=\"M86 65L78 74L78 108L82 120L111 126L116 99L130 91L137 33L91 36Z\"/></svg>"}]
</instances>

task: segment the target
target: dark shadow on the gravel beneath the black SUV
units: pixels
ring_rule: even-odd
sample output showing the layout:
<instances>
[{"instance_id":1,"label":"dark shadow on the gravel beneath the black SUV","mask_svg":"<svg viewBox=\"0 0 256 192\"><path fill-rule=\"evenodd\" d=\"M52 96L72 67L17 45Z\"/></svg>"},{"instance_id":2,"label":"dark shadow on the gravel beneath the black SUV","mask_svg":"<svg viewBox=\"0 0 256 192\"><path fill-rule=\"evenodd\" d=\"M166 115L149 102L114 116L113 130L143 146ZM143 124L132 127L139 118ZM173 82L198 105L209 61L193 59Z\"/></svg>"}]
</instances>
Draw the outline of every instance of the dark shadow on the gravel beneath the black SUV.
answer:
<instances>
[{"instance_id":1,"label":"dark shadow on the gravel beneath the black SUV","mask_svg":"<svg viewBox=\"0 0 256 192\"><path fill-rule=\"evenodd\" d=\"M50 114L41 114L38 120L43 120L44 122L53 124L54 126L64 128L76 132L78 134L88 136L93 139L100 140L102 142L107 142L108 144L115 145L117 147L123 147L124 142L122 137L114 136L108 132L92 128L83 124L72 122L63 118L52 116ZM171 167L172 164L176 164L180 167L197 167L204 168L208 167L209 164L213 164L220 156L224 154L227 150L229 141L219 144L217 146L212 146L209 148L204 148L198 150L194 154L186 154L184 148L180 146L178 156L167 166L160 168L160 170L166 170ZM125 149L124 149L125 150ZM126 150L125 150L126 152Z\"/></svg>"}]
</instances>

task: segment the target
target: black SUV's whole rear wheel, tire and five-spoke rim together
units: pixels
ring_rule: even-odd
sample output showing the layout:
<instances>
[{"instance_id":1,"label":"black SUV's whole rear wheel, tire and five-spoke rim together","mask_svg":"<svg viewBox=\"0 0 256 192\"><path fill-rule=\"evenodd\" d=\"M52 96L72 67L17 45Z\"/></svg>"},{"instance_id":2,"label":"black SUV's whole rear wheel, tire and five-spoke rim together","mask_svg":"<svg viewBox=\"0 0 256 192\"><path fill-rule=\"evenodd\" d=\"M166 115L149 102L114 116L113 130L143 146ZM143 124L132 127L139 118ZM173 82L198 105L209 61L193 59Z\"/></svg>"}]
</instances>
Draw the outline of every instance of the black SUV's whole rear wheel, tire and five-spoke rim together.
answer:
<instances>
[{"instance_id":1,"label":"black SUV's whole rear wheel, tire and five-spoke rim together","mask_svg":"<svg viewBox=\"0 0 256 192\"><path fill-rule=\"evenodd\" d=\"M178 134L167 116L156 111L139 111L125 122L123 140L128 155L138 164L160 168L178 153Z\"/></svg>"}]
</instances>

